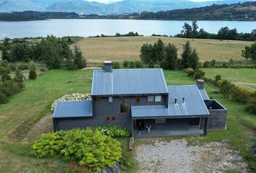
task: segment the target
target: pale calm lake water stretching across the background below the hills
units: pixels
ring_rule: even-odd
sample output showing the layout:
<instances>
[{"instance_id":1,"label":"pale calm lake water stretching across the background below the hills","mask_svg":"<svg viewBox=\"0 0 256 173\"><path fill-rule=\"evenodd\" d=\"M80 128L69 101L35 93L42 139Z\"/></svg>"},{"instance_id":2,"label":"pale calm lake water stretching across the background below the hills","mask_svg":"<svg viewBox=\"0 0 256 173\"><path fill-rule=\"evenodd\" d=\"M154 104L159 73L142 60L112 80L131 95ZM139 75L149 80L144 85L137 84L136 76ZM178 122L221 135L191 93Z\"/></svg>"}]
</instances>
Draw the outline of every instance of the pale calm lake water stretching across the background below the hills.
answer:
<instances>
[{"instance_id":1,"label":"pale calm lake water stretching across the background below the hills","mask_svg":"<svg viewBox=\"0 0 256 173\"><path fill-rule=\"evenodd\" d=\"M51 19L30 22L0 22L0 39L4 37L45 37L95 36L126 34L130 31L140 35L176 35L182 30L184 22L163 20L127 20L127 19ZM238 32L251 32L256 22L239 21L198 21L199 28L216 33L221 27L236 28Z\"/></svg>"}]
</instances>

